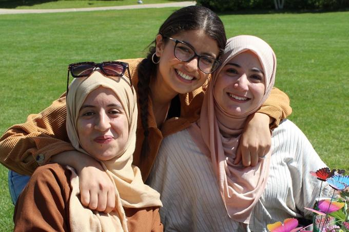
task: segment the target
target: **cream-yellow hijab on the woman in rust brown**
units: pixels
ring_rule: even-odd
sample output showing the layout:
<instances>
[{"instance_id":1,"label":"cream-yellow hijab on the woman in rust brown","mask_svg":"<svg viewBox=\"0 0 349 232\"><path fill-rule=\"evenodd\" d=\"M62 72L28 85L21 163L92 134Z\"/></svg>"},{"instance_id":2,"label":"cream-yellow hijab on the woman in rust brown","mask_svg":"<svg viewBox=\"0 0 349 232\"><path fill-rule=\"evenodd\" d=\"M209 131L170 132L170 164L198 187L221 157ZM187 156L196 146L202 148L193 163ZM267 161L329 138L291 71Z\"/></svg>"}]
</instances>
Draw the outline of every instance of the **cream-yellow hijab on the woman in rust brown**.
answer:
<instances>
[{"instance_id":1,"label":"cream-yellow hijab on the woman in rust brown","mask_svg":"<svg viewBox=\"0 0 349 232\"><path fill-rule=\"evenodd\" d=\"M70 227L72 231L128 231L123 207L142 208L162 206L160 194L145 185L140 169L131 165L135 148L137 127L137 98L128 78L107 78L94 71L88 78L76 78L69 86L67 95L67 133L73 147L88 154L80 145L76 122L79 111L87 95L103 86L115 92L122 104L129 126L128 141L125 147L108 161L100 161L109 178L115 185L115 209L109 214L92 211L80 202L79 177L72 168L70 196ZM132 92L133 91L133 92Z\"/></svg>"}]
</instances>

